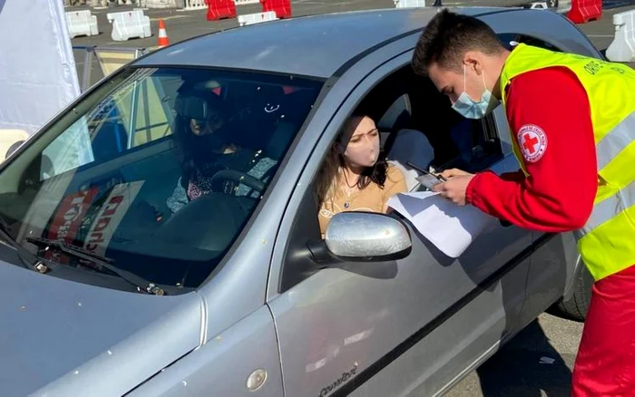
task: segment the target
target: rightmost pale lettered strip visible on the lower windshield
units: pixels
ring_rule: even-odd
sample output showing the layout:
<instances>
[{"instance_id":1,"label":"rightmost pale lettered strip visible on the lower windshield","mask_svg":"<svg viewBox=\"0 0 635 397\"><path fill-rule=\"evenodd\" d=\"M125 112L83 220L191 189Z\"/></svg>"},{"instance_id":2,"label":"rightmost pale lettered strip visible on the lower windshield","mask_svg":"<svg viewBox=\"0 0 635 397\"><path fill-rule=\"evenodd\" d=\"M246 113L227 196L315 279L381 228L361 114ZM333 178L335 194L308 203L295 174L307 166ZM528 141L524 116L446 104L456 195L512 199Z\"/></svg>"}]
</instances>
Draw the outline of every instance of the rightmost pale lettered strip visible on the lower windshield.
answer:
<instances>
[{"instance_id":1,"label":"rightmost pale lettered strip visible on the lower windshield","mask_svg":"<svg viewBox=\"0 0 635 397\"><path fill-rule=\"evenodd\" d=\"M128 212L142 185L143 181L138 180L120 183L112 188L88 231L84 249L93 254L104 255L114 231Z\"/></svg>"}]
</instances>

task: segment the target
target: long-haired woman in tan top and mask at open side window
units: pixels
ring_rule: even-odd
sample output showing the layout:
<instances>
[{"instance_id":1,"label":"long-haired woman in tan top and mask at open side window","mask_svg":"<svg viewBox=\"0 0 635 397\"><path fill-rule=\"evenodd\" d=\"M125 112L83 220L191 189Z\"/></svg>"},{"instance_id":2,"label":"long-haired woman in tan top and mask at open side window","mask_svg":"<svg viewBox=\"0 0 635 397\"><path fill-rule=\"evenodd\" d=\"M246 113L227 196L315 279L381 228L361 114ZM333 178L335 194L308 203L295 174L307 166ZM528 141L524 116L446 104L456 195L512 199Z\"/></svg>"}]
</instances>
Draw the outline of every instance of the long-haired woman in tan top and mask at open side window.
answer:
<instances>
[{"instance_id":1,"label":"long-haired woman in tan top and mask at open side window","mask_svg":"<svg viewBox=\"0 0 635 397\"><path fill-rule=\"evenodd\" d=\"M337 213L386 213L388 199L407 190L404 174L386 162L379 146L379 131L373 119L363 113L348 119L318 176L322 238Z\"/></svg>"}]
</instances>

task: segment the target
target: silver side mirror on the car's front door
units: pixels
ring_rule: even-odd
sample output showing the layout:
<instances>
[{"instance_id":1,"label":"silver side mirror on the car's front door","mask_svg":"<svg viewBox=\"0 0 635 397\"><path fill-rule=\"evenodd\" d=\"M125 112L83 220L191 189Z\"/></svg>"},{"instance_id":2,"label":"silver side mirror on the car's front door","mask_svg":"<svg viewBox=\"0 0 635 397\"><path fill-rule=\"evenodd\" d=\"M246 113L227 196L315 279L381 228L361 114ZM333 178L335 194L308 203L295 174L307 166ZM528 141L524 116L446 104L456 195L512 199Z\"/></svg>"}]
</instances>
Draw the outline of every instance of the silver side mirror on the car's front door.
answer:
<instances>
[{"instance_id":1,"label":"silver side mirror on the car's front door","mask_svg":"<svg viewBox=\"0 0 635 397\"><path fill-rule=\"evenodd\" d=\"M324 243L331 257L352 262L402 259L412 249L410 233L400 220L361 211L331 218Z\"/></svg>"}]
</instances>

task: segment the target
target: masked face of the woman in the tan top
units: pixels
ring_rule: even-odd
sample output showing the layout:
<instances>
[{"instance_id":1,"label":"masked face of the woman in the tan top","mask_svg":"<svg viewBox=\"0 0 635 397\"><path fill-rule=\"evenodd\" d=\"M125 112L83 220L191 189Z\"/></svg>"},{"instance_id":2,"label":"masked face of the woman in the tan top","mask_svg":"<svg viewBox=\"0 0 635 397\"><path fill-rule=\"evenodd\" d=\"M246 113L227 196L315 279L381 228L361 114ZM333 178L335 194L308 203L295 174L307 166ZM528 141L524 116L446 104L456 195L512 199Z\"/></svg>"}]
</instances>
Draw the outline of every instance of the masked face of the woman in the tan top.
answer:
<instances>
[{"instance_id":1,"label":"masked face of the woman in the tan top","mask_svg":"<svg viewBox=\"0 0 635 397\"><path fill-rule=\"evenodd\" d=\"M354 129L347 148L344 150L344 160L352 167L372 167L379 157L379 131L375 121L364 116L349 122L349 129Z\"/></svg>"}]
</instances>

